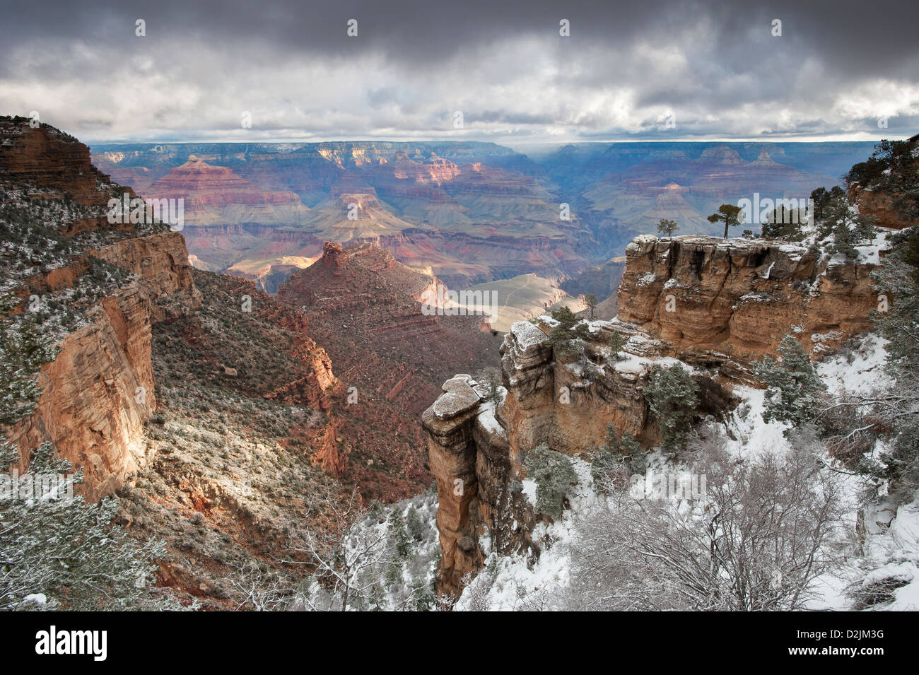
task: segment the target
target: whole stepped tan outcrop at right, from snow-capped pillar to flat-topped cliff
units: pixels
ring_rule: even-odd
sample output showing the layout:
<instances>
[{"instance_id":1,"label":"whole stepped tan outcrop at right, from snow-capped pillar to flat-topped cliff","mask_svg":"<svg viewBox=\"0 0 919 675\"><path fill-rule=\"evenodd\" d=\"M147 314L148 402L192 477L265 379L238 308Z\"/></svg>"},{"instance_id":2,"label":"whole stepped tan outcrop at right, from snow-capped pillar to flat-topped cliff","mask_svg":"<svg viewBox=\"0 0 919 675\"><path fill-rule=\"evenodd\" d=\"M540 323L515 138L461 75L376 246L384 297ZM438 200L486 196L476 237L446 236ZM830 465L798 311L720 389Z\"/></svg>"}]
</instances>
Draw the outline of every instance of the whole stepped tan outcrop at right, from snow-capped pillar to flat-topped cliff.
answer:
<instances>
[{"instance_id":1,"label":"whole stepped tan outcrop at right, from snow-capped pillar to flat-topped cliff","mask_svg":"<svg viewBox=\"0 0 919 675\"><path fill-rule=\"evenodd\" d=\"M644 235L627 249L618 318L591 325L583 356L550 346L547 319L515 323L501 346L505 393L497 405L472 377L458 375L423 414L437 478L439 590L457 593L481 567L481 542L504 554L538 554L528 534L534 513L519 483L529 450L548 444L590 455L608 423L646 447L659 444L643 388L652 366L676 363L673 356L717 373L693 377L698 417L719 417L737 404L732 382L748 381L750 361L774 353L789 330L813 352L868 330L868 310L878 303L872 268L796 244ZM609 354L612 330L630 338L625 358Z\"/></svg>"}]
</instances>

